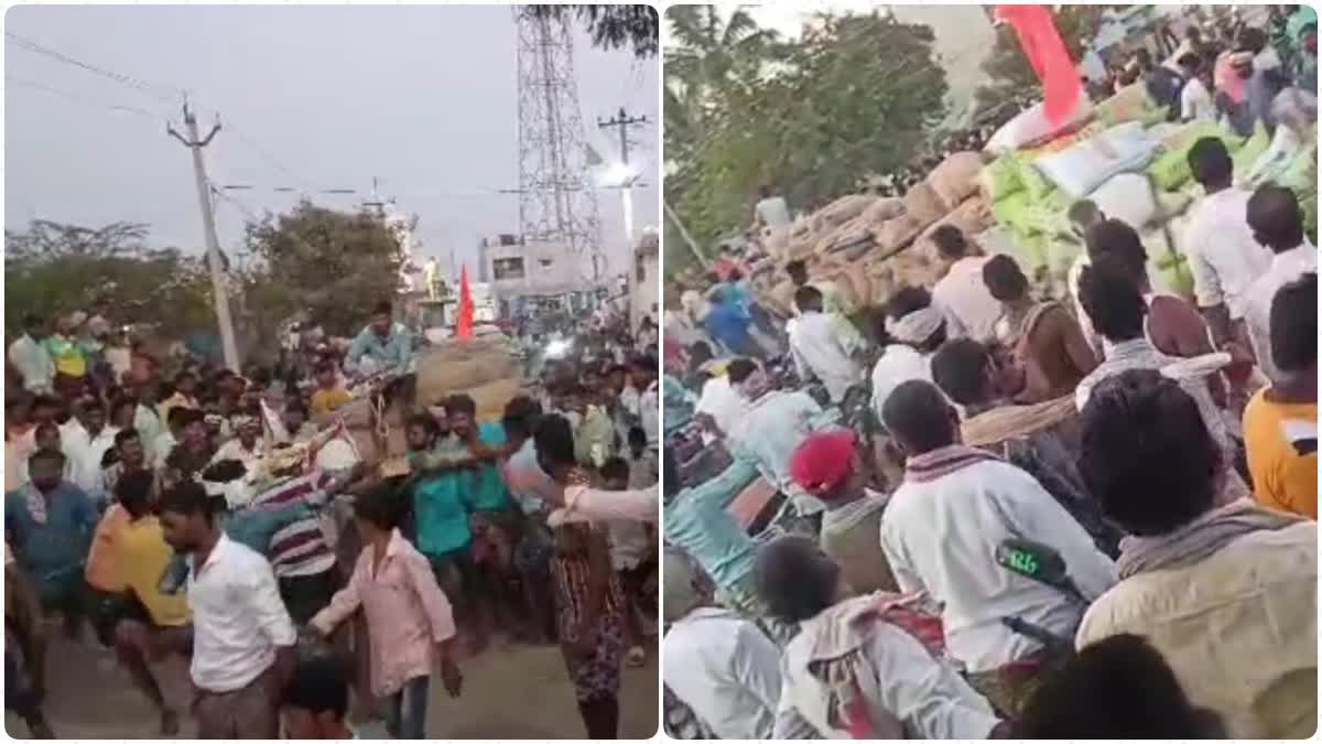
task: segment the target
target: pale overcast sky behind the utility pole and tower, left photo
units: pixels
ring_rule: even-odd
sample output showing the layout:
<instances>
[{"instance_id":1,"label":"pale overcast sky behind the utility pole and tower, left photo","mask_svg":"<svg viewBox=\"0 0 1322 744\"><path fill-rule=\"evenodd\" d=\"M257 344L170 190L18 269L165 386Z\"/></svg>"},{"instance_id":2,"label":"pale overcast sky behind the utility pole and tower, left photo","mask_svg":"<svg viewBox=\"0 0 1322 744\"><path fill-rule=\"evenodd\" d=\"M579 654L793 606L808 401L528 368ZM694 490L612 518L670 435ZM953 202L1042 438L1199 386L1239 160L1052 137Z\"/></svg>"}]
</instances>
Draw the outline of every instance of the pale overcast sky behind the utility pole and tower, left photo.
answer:
<instances>
[{"instance_id":1,"label":"pale overcast sky behind the utility pole and tower, left photo","mask_svg":"<svg viewBox=\"0 0 1322 744\"><path fill-rule=\"evenodd\" d=\"M151 225L152 244L200 250L201 217L188 151L165 135L178 120L169 89L185 89L219 184L254 213L296 197L270 191L358 189L315 196L353 208L381 193L419 217L423 254L476 256L481 236L517 232L514 20L508 7L405 5L22 5L5 30L78 62L143 81L122 83L5 44L5 224L40 217L89 226ZM583 122L598 146L617 135L596 119L620 106L658 119L657 61L591 46L575 25ZM38 90L45 86L57 93ZM161 91L160 89L165 89ZM114 106L149 113L112 110ZM631 160L646 171L635 191L636 229L657 224L657 128L633 130ZM603 245L623 252L617 191L599 192ZM242 242L242 210L219 203L218 232ZM469 258L472 259L472 258Z\"/></svg>"}]
</instances>

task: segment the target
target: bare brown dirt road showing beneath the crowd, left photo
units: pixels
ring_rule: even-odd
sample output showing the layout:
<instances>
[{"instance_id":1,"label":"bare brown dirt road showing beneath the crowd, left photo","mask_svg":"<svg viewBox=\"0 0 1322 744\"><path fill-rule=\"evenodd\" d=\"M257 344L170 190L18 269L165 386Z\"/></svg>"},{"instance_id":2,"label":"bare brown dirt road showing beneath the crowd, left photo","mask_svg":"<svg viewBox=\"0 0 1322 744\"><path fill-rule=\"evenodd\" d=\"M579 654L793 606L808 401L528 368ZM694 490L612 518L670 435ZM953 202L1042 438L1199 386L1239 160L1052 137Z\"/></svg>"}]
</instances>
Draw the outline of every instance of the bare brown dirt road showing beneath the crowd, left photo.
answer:
<instances>
[{"instance_id":1,"label":"bare brown dirt road showing beneath the crowd, left photo","mask_svg":"<svg viewBox=\"0 0 1322 744\"><path fill-rule=\"evenodd\" d=\"M114 655L100 646L74 643L54 633L49 658L46 715L61 739L155 739L152 707L131 684ZM159 671L165 696L184 710L188 670L172 659ZM432 739L584 739L574 688L557 646L496 646L463 663L464 694L446 695L432 686L427 735ZM628 669L620 699L620 737L646 739L657 731L656 655ZM5 716L11 737L28 739L28 727ZM196 736L184 720L181 739ZM360 725L360 736L385 737L379 724Z\"/></svg>"}]
</instances>

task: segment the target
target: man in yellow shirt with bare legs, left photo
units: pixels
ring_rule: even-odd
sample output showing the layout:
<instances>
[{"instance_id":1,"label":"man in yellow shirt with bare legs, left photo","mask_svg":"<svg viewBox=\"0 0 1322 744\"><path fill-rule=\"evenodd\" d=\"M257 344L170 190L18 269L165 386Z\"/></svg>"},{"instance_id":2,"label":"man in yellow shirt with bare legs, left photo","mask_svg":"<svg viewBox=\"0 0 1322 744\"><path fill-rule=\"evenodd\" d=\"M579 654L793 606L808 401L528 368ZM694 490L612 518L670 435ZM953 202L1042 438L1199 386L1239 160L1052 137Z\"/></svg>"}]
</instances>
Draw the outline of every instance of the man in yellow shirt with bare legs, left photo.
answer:
<instances>
[{"instance_id":1,"label":"man in yellow shirt with bare legs, left photo","mask_svg":"<svg viewBox=\"0 0 1322 744\"><path fill-rule=\"evenodd\" d=\"M119 526L111 551L124 588L124 610L115 622L114 643L119 663L134 684L160 712L163 736L178 735L178 712L165 703L151 663L192 646L192 617L184 593L164 594L159 584L173 551L152 514L152 474L147 470L120 478L115 488L128 520Z\"/></svg>"}]
</instances>

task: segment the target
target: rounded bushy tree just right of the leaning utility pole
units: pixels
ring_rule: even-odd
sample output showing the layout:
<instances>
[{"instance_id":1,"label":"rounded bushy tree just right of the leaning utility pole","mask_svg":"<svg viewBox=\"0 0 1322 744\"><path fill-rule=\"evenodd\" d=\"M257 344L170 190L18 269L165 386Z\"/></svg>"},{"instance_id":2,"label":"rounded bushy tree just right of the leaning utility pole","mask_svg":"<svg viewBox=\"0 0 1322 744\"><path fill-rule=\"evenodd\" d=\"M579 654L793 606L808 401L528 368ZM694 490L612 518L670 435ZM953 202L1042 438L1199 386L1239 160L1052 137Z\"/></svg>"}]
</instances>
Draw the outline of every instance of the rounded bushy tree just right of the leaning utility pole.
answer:
<instances>
[{"instance_id":1,"label":"rounded bushy tree just right of the leaning utility pole","mask_svg":"<svg viewBox=\"0 0 1322 744\"><path fill-rule=\"evenodd\" d=\"M371 307L399 287L399 241L375 212L336 212L304 201L247 225L262 267L246 279L247 304L266 319L308 310L327 332L357 332ZM259 298L259 299L256 299Z\"/></svg>"}]
</instances>

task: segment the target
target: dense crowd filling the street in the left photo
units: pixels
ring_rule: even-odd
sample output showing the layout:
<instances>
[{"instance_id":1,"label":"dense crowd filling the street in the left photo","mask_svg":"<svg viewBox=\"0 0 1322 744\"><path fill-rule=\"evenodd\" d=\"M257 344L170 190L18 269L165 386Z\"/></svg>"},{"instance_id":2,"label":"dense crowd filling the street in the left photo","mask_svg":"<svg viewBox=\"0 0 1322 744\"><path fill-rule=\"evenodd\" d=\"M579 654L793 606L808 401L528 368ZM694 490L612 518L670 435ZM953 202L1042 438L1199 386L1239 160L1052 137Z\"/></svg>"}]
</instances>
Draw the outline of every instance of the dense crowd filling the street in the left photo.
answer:
<instances>
[{"instance_id":1,"label":"dense crowd filling the street in the left photo","mask_svg":"<svg viewBox=\"0 0 1322 744\"><path fill-rule=\"evenodd\" d=\"M147 357L99 315L25 318L5 365L7 711L58 735L62 628L114 651L164 736L192 718L201 737L348 739L353 703L424 739L431 678L461 695L494 634L561 645L586 732L616 737L621 666L645 663L658 612L656 336L586 326L479 421L463 392L415 400L427 351L385 302L348 344L307 323L242 376ZM177 659L189 716L161 676Z\"/></svg>"}]
</instances>

